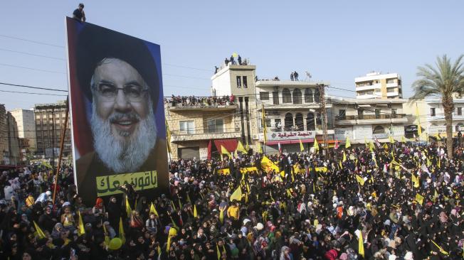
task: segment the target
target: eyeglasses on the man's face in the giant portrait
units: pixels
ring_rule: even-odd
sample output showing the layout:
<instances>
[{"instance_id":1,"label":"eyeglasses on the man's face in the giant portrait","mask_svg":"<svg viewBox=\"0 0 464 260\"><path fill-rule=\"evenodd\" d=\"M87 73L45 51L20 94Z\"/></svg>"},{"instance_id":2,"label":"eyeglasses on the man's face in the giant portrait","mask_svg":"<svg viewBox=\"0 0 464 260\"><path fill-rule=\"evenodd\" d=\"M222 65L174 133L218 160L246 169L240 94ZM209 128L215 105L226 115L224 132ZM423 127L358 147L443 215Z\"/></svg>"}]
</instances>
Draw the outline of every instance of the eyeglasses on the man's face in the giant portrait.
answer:
<instances>
[{"instance_id":1,"label":"eyeglasses on the man's face in the giant portrait","mask_svg":"<svg viewBox=\"0 0 464 260\"><path fill-rule=\"evenodd\" d=\"M141 102L144 98L147 89L144 89L139 85L126 85L124 87L115 87L111 83L102 82L97 86L97 92L104 102L114 102L117 97L117 93L122 90L125 97L130 102Z\"/></svg>"}]
</instances>

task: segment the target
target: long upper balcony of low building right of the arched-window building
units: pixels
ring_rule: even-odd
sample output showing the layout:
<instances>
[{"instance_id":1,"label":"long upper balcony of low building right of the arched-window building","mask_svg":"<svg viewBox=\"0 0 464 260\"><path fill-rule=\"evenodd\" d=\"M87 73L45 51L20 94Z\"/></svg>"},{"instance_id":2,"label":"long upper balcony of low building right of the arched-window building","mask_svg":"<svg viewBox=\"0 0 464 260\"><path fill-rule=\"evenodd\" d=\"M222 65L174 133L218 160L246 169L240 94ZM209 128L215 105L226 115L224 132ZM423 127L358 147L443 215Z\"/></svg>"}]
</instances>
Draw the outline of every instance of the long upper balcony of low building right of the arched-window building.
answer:
<instances>
[{"instance_id":1,"label":"long upper balcony of low building right of the arched-window building","mask_svg":"<svg viewBox=\"0 0 464 260\"><path fill-rule=\"evenodd\" d=\"M335 124L347 126L354 124L399 124L406 123L406 114L364 114L362 116L337 116Z\"/></svg>"}]
</instances>

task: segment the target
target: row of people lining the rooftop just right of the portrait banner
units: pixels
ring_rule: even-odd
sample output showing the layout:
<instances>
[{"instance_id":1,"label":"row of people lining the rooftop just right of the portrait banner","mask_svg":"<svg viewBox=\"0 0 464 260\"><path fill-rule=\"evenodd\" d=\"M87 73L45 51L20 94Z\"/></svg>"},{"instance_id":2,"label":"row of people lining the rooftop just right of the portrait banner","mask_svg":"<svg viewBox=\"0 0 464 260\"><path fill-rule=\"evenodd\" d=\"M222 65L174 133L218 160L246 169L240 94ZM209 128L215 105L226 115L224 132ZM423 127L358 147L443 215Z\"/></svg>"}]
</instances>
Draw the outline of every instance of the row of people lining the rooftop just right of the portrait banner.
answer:
<instances>
[{"instance_id":1,"label":"row of people lining the rooftop just right of the portrait banner","mask_svg":"<svg viewBox=\"0 0 464 260\"><path fill-rule=\"evenodd\" d=\"M175 97L172 95L171 98L164 98L164 104L171 104L172 107L179 106L225 106L233 105L235 102L235 96L223 96L223 97Z\"/></svg>"}]
</instances>

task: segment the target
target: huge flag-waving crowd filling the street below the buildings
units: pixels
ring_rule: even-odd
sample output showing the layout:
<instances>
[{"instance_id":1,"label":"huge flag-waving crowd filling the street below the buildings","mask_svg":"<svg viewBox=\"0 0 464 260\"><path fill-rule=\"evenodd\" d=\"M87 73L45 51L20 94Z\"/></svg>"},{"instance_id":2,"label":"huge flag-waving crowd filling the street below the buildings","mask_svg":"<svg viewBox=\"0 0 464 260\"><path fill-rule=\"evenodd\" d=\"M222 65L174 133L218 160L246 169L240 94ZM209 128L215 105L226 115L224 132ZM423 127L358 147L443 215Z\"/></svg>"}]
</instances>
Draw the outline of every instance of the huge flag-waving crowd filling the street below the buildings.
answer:
<instances>
[{"instance_id":1,"label":"huge flag-waving crowd filling the street below the buildings","mask_svg":"<svg viewBox=\"0 0 464 260\"><path fill-rule=\"evenodd\" d=\"M373 146L172 161L154 201L95 205L70 168L54 205L53 172L9 170L0 259L463 259L464 148Z\"/></svg>"}]
</instances>

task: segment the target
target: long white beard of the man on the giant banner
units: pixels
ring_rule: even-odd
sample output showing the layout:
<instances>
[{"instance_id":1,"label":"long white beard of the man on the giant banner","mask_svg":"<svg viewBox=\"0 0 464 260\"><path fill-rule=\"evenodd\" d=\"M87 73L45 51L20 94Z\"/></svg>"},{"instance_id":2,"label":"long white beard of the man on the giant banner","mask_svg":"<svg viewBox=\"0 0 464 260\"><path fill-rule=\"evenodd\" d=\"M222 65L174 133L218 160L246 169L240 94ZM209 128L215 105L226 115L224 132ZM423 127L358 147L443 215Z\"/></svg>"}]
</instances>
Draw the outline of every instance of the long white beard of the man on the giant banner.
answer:
<instances>
[{"instance_id":1,"label":"long white beard of the man on the giant banner","mask_svg":"<svg viewBox=\"0 0 464 260\"><path fill-rule=\"evenodd\" d=\"M113 112L107 120L97 115L95 100L92 103L92 117L90 127L93 134L93 147L105 166L115 173L134 173L147 160L149 153L157 141L157 127L154 121L152 102L149 100L149 113L146 119L132 112L131 116L139 119L137 130L131 134L127 132L112 133L111 119L122 115ZM119 134L126 140L116 139Z\"/></svg>"}]
</instances>

